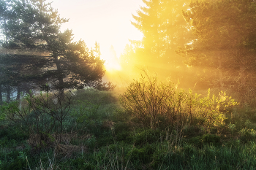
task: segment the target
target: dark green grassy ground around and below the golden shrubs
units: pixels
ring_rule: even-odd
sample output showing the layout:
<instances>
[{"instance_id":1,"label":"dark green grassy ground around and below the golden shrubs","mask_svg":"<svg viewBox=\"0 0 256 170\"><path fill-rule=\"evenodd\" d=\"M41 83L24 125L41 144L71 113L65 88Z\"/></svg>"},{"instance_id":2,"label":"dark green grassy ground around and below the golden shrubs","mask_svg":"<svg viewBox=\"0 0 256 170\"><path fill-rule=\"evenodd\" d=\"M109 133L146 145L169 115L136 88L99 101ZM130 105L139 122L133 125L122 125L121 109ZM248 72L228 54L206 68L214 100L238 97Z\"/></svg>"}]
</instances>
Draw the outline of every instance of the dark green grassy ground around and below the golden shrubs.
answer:
<instances>
[{"instance_id":1,"label":"dark green grassy ground around and below the golden shrubs","mask_svg":"<svg viewBox=\"0 0 256 170\"><path fill-rule=\"evenodd\" d=\"M199 120L150 128L113 92L73 91L61 142L34 144L37 134L2 118L0 169L255 169L255 109L236 106L225 117L217 128Z\"/></svg>"}]
</instances>

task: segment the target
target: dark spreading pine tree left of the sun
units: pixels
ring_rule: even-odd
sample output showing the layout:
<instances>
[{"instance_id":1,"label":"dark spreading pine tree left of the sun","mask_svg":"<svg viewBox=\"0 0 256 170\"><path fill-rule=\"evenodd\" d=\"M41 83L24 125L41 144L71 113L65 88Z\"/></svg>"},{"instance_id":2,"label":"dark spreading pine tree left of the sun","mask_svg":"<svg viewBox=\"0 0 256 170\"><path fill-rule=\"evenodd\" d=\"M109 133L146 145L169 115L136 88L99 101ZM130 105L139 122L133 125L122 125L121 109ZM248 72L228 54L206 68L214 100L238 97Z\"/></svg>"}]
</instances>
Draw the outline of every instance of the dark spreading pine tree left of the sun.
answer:
<instances>
[{"instance_id":1,"label":"dark spreading pine tree left of the sun","mask_svg":"<svg viewBox=\"0 0 256 170\"><path fill-rule=\"evenodd\" d=\"M34 73L32 82L48 79L48 83L63 91L64 88L82 88L101 81L105 70L104 61L99 58L99 45L94 55L82 40L72 41L72 31L62 33L61 24L68 20L60 18L46 0L2 2L7 6L7 13L12 15L0 26L7 37L2 47L15 50L17 54L33 51L43 60L38 67L40 72ZM40 55L42 53L48 55Z\"/></svg>"}]
</instances>

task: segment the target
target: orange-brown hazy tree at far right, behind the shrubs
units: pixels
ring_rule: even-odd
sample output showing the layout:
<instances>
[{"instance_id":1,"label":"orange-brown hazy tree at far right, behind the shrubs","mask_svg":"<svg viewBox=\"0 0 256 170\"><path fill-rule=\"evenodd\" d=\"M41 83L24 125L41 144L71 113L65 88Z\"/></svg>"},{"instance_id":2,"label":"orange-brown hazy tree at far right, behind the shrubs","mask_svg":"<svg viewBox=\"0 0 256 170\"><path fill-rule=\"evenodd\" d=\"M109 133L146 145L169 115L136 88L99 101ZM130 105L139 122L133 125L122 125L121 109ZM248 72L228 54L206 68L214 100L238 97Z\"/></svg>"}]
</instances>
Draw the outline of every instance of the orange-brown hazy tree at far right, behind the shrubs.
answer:
<instances>
[{"instance_id":1,"label":"orange-brown hazy tree at far right, behind the shrubs","mask_svg":"<svg viewBox=\"0 0 256 170\"><path fill-rule=\"evenodd\" d=\"M205 69L210 83L240 93L255 87L256 4L246 1L192 1L184 18L195 34L178 53L187 56L189 66ZM212 80L217 80L214 83Z\"/></svg>"}]
</instances>

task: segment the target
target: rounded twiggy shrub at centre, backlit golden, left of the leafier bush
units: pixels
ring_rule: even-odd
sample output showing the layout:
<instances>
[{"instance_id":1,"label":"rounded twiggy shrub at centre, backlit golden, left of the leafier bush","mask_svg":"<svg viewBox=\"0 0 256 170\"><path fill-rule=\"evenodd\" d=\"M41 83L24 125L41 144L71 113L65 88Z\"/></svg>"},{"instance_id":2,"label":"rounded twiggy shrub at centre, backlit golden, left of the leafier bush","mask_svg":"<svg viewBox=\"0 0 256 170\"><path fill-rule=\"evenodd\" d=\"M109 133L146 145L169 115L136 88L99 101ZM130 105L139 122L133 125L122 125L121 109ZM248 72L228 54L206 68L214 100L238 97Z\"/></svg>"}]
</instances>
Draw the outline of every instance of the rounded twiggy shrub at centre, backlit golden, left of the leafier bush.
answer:
<instances>
[{"instance_id":1,"label":"rounded twiggy shrub at centre, backlit golden, left of the leafier bush","mask_svg":"<svg viewBox=\"0 0 256 170\"><path fill-rule=\"evenodd\" d=\"M160 116L167 117L168 123L181 118L184 90L176 90L171 82L157 82L157 77L147 78L135 80L121 95L120 102L124 109L150 128L157 127Z\"/></svg>"}]
</instances>

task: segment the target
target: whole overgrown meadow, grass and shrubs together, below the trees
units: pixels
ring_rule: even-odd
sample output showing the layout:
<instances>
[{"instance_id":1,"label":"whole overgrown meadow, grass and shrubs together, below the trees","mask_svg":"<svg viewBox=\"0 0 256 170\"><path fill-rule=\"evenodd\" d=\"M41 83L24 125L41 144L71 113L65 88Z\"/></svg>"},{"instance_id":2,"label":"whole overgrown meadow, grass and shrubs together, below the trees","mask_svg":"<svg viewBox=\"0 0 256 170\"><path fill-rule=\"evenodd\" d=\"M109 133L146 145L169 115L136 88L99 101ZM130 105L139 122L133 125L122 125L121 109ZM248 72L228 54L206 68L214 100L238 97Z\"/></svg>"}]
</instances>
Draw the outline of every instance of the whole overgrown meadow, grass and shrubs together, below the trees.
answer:
<instances>
[{"instance_id":1,"label":"whole overgrown meadow, grass and shrubs together, below the trees","mask_svg":"<svg viewBox=\"0 0 256 170\"><path fill-rule=\"evenodd\" d=\"M256 111L157 77L1 105L0 169L255 169Z\"/></svg>"}]
</instances>

